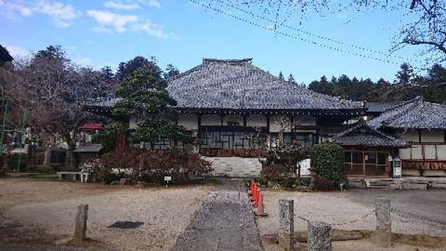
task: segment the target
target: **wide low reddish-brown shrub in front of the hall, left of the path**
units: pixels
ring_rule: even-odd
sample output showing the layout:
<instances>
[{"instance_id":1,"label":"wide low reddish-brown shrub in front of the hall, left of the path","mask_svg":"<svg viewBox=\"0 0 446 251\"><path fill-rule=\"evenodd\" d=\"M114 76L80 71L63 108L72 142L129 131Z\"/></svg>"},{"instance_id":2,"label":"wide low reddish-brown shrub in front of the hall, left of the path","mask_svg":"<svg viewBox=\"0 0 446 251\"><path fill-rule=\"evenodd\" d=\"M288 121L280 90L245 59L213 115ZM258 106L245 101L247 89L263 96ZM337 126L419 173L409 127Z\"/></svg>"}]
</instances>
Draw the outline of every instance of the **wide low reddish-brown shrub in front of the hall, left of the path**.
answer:
<instances>
[{"instance_id":1,"label":"wide low reddish-brown shrub in front of the hall, left of the path","mask_svg":"<svg viewBox=\"0 0 446 251\"><path fill-rule=\"evenodd\" d=\"M105 169L117 169L129 178L139 181L164 182L164 176L172 177L172 183L188 181L189 174L201 176L212 171L210 162L189 149L134 149L112 151L100 157L99 165Z\"/></svg>"}]
</instances>

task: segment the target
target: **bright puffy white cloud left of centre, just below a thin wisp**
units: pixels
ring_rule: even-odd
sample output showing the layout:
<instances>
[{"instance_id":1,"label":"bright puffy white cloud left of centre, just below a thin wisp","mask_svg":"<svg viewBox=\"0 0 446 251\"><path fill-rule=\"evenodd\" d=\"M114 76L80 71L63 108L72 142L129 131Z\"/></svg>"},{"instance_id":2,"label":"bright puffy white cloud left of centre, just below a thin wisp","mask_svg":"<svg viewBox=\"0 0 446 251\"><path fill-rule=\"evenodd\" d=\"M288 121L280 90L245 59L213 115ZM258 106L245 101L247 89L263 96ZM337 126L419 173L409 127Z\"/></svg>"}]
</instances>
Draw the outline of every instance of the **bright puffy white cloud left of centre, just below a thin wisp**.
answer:
<instances>
[{"instance_id":1,"label":"bright puffy white cloud left of centre, just below a thin wisp","mask_svg":"<svg viewBox=\"0 0 446 251\"><path fill-rule=\"evenodd\" d=\"M96 29L100 31L111 31L114 29L118 33L123 33L127 31L128 24L138 20L136 15L119 15L104 10L87 10L86 13L98 22L99 26Z\"/></svg>"}]
</instances>

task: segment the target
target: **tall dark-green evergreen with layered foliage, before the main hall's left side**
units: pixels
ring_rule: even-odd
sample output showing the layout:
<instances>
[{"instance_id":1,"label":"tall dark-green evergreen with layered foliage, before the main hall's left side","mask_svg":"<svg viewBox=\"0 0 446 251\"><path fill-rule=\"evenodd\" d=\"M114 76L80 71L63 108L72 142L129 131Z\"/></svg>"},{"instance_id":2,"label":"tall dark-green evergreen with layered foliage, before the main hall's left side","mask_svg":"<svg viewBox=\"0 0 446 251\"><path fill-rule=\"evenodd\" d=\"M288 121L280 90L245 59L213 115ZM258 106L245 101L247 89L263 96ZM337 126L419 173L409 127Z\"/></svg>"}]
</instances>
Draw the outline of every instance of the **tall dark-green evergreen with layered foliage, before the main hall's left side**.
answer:
<instances>
[{"instance_id":1,"label":"tall dark-green evergreen with layered foliage, before the main hall's left side","mask_svg":"<svg viewBox=\"0 0 446 251\"><path fill-rule=\"evenodd\" d=\"M178 142L190 140L190 132L183 126L177 126L171 121L176 113L169 107L176 101L165 89L167 81L161 73L149 68L134 70L119 87L116 94L123 98L113 109L115 115L142 116L144 122L139 124L130 135L132 142L150 142L151 146L159 139L172 139Z\"/></svg>"}]
</instances>

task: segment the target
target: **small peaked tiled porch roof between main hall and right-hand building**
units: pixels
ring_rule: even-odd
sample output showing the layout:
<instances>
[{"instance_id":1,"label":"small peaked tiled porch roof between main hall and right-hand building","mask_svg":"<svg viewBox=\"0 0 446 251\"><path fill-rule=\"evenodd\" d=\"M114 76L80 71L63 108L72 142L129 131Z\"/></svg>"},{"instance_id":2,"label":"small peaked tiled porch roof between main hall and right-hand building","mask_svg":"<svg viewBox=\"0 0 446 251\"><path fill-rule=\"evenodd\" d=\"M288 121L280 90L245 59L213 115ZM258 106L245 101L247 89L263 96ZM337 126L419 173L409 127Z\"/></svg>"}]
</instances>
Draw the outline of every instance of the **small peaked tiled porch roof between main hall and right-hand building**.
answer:
<instances>
[{"instance_id":1,"label":"small peaked tiled porch roof between main hall and right-hand building","mask_svg":"<svg viewBox=\"0 0 446 251\"><path fill-rule=\"evenodd\" d=\"M367 125L365 121L359 121L357 125L341 132L331 139L332 142L343 146L380 146L380 147L406 147L406 142L395 137L390 137Z\"/></svg>"}]
</instances>

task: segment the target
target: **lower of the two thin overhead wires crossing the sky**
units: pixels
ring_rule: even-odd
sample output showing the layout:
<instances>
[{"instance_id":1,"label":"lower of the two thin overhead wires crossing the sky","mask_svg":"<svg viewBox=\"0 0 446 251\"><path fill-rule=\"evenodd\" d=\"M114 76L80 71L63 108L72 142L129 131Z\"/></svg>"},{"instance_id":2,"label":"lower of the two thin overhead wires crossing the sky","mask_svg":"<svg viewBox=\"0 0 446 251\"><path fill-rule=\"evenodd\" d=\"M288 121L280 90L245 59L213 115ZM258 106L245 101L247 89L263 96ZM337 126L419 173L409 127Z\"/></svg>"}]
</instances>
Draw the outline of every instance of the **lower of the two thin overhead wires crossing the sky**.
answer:
<instances>
[{"instance_id":1,"label":"lower of the two thin overhead wires crossing the sky","mask_svg":"<svg viewBox=\"0 0 446 251\"><path fill-rule=\"evenodd\" d=\"M353 55L353 56L359 56L359 57L362 57L362 58L364 58L364 59L373 59L373 60L375 60L375 61L380 61L380 62L383 62L383 63L391 63L391 64L394 64L394 65L399 65L399 64L400 64L399 62L391 61L391 60L389 60L389 59L380 59L380 58L378 58L378 57L376 57L376 56L369 56L369 55L364 55L364 54L360 54L360 53L357 53L357 52L351 52L351 51L343 50L343 49L339 49L339 48L337 48L337 47L333 47L333 46L330 46L330 45L325 45L325 44L323 44L323 43L318 43L318 42L316 42L316 41L314 41L314 40L309 40L309 39L306 39L306 38L301 38L301 37L299 37L299 36L294 36L294 35L291 35L291 34L289 34L289 33L285 33L285 32L283 32L283 31L277 31L277 30L272 29L272 28L269 28L269 27L267 27L267 26L263 26L263 25L261 25L261 24L257 24L257 23L255 23L255 22L251 22L251 21L249 21L249 20L245 20L245 19L243 19L242 17L237 17L236 15L232 15L232 14L230 14L230 13L226 13L226 11L224 11L224 10L220 10L220 9L217 9L217 8L213 8L212 6L210 6L210 5L206 5L206 4L203 4L203 3L200 3L199 1L195 1L195 0L189 0L189 1L191 1L192 3L196 3L196 4L198 4L199 6L203 6L203 7L205 7L205 8L210 9L210 10L213 10L213 11L215 11L215 12L217 12L217 13L221 13L221 14L227 15L227 16L229 16L229 17L232 17L232 18L236 19L236 20L245 22L245 23L247 23L247 24L251 24L252 26L256 26L256 27L259 27L259 28L261 28L261 29L265 29L266 31L272 31L272 32L275 33L275 34L279 34L279 35L282 35L282 36L286 36L286 37L288 37L288 38L293 38L293 39L295 39L295 40L300 40L300 41L302 41L302 42L310 43L310 44L312 44L312 45L318 45L318 46L323 47L323 48L325 48L325 49L330 49L330 50L334 50L334 51L337 51L337 52L342 52L342 53L345 53L345 54L351 54L351 55ZM217 0L217 1L218 1L218 0ZM413 68L415 68L415 67L413 67Z\"/></svg>"}]
</instances>

